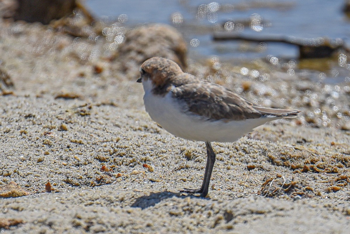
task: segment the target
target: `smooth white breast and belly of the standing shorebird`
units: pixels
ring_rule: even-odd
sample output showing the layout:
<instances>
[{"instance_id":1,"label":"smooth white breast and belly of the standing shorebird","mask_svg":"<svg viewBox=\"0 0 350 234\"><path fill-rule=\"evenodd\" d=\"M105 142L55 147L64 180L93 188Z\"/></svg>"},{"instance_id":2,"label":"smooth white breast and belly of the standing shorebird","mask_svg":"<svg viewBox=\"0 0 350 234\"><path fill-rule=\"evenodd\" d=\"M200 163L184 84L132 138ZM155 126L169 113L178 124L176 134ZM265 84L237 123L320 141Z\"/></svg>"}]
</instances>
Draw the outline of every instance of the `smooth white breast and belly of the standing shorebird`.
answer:
<instances>
[{"instance_id":1,"label":"smooth white breast and belly of the standing shorebird","mask_svg":"<svg viewBox=\"0 0 350 234\"><path fill-rule=\"evenodd\" d=\"M205 121L196 115L184 113L180 103L176 102L170 93L162 97L146 92L144 102L149 116L162 128L177 137L203 142L234 142L253 128L279 118Z\"/></svg>"}]
</instances>

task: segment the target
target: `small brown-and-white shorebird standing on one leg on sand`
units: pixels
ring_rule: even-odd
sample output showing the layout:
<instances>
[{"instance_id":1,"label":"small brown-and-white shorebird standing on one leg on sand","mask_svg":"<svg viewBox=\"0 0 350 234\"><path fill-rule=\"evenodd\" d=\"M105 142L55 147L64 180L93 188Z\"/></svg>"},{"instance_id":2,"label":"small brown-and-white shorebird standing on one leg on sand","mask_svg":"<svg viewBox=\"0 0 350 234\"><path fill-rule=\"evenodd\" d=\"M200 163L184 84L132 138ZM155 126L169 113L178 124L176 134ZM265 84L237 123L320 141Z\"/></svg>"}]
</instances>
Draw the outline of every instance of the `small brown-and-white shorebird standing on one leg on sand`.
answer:
<instances>
[{"instance_id":1,"label":"small brown-and-white shorebird standing on one leg on sand","mask_svg":"<svg viewBox=\"0 0 350 234\"><path fill-rule=\"evenodd\" d=\"M216 154L211 142L235 142L268 121L297 117L299 110L256 105L215 83L184 73L163 57L147 59L137 80L149 116L174 136L204 142L207 164L201 188L180 192L206 197Z\"/></svg>"}]
</instances>

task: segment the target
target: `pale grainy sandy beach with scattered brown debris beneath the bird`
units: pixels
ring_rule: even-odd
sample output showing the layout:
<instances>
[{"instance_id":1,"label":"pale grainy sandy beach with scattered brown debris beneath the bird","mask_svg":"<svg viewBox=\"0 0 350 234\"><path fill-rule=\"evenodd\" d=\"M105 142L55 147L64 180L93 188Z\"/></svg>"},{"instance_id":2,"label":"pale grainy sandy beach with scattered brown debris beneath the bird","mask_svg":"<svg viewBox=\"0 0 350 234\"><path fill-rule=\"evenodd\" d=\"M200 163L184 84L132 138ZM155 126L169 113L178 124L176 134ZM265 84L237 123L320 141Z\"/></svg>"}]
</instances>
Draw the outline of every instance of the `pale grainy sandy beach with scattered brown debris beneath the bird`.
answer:
<instances>
[{"instance_id":1,"label":"pale grainy sandy beach with scattered brown debris beneath the bird","mask_svg":"<svg viewBox=\"0 0 350 234\"><path fill-rule=\"evenodd\" d=\"M303 112L213 143L209 194L198 198L179 191L201 185L204 143L152 121L138 77L107 59L104 37L21 22L1 22L0 31L0 68L14 83L0 96L2 233L349 231L349 82L316 83L262 61L189 60L189 73ZM13 197L9 184L26 195Z\"/></svg>"}]
</instances>

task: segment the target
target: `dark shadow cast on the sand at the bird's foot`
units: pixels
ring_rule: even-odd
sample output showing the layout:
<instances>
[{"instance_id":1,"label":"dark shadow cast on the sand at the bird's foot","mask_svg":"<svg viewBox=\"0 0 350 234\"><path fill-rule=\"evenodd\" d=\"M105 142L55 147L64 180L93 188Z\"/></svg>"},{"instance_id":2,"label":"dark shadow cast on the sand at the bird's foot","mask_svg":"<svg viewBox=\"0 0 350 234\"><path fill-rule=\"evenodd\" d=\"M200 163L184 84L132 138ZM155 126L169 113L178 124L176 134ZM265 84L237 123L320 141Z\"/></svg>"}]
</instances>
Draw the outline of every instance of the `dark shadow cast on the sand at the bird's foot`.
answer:
<instances>
[{"instance_id":1,"label":"dark shadow cast on the sand at the bird's foot","mask_svg":"<svg viewBox=\"0 0 350 234\"><path fill-rule=\"evenodd\" d=\"M198 198L198 199L209 199L195 196L193 194L184 195L182 193L173 193L173 192L159 192L159 193L151 193L148 196L142 196L136 199L136 201L131 205L131 207L140 207L141 209L148 208L150 206L154 206L158 202L161 202L164 199L178 197L178 198Z\"/></svg>"}]
</instances>

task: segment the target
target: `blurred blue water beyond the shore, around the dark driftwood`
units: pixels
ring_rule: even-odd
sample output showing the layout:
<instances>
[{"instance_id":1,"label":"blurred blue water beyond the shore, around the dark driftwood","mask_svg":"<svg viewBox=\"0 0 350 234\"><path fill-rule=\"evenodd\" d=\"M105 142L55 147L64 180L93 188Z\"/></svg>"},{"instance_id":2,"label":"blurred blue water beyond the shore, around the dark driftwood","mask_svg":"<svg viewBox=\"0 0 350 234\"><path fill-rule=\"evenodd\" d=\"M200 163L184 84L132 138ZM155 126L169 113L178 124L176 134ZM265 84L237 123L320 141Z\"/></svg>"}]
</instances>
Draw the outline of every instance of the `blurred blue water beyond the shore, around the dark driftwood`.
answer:
<instances>
[{"instance_id":1,"label":"blurred blue water beyond the shore, around the dark driftwood","mask_svg":"<svg viewBox=\"0 0 350 234\"><path fill-rule=\"evenodd\" d=\"M244 25L246 21L244 29L235 28L242 35L341 38L350 45L350 20L342 12L344 3L343 0L86 0L94 15L112 22L125 21L128 26L161 22L176 26L189 44L190 55L240 59L267 55L297 58L299 51L296 46L282 43L267 43L265 50L259 50L239 41L214 42L209 29L228 21L235 28L239 26L237 23ZM198 11L202 4L207 5L203 14ZM254 27L249 25L252 17L258 22ZM191 43L193 39L195 43Z\"/></svg>"}]
</instances>

